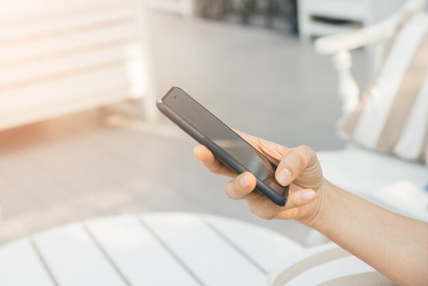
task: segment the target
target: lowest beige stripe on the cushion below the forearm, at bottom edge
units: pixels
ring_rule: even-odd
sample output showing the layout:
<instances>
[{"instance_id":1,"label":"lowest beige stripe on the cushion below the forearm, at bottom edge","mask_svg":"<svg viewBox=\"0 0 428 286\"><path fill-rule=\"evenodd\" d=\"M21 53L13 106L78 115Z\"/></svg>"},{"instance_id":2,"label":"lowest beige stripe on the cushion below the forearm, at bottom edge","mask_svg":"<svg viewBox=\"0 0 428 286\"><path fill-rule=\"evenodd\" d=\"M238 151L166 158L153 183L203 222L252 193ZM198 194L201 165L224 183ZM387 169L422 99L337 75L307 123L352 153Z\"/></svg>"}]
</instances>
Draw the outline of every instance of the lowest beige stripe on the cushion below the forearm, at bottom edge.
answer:
<instances>
[{"instance_id":1,"label":"lowest beige stripe on the cushion below the forearm, at bottom edge","mask_svg":"<svg viewBox=\"0 0 428 286\"><path fill-rule=\"evenodd\" d=\"M318 286L394 286L397 285L390 281L379 272L365 272L349 276L334 278L330 281L319 284Z\"/></svg>"}]
</instances>

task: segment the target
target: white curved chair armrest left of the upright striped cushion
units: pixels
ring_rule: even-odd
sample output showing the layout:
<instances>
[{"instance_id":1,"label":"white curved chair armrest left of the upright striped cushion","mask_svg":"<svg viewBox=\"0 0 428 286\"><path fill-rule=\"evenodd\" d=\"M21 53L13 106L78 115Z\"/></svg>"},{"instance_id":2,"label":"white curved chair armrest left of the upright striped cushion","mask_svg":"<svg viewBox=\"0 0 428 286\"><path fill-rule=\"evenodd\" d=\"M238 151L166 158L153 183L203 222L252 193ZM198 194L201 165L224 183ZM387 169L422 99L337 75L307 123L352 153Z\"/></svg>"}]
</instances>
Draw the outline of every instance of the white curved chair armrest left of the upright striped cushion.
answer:
<instances>
[{"instance_id":1,"label":"white curved chair armrest left of the upright striped cushion","mask_svg":"<svg viewBox=\"0 0 428 286\"><path fill-rule=\"evenodd\" d=\"M395 27L400 23L400 19L401 16L397 13L385 21L358 31L318 38L315 40L315 51L323 55L333 55L340 51L350 51L385 40L392 36Z\"/></svg>"}]
</instances>

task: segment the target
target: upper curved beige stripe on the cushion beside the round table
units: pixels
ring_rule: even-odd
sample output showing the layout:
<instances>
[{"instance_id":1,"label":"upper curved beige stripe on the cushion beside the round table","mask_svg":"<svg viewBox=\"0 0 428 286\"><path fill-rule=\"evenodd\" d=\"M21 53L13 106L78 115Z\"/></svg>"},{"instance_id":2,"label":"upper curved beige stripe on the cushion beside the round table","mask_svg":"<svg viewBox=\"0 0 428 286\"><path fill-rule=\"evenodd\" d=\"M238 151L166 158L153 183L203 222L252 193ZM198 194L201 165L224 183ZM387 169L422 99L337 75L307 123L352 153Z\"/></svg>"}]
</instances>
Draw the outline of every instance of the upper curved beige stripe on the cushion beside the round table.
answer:
<instances>
[{"instance_id":1,"label":"upper curved beige stripe on the cushion beside the round table","mask_svg":"<svg viewBox=\"0 0 428 286\"><path fill-rule=\"evenodd\" d=\"M347 256L351 256L351 254L340 247L330 248L324 250L323 252L315 253L315 255L295 263L291 267L287 268L284 272L279 274L275 279L275 282L273 282L273 286L285 285L285 283L288 283L291 281L291 279L295 278L297 275L305 272L306 270L309 270L310 268L314 268L317 265Z\"/></svg>"}]
</instances>

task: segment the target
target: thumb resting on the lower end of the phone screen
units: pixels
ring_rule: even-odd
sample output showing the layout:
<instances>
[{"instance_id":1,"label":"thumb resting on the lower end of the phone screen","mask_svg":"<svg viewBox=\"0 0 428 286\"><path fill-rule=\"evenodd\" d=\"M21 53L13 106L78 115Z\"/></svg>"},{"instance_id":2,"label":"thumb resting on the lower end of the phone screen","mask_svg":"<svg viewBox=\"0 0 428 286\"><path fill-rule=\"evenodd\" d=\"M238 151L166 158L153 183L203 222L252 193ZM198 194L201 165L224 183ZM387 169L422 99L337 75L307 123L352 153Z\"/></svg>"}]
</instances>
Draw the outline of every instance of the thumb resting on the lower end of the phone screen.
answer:
<instances>
[{"instance_id":1,"label":"thumb resting on the lower end of the phone screen","mask_svg":"<svg viewBox=\"0 0 428 286\"><path fill-rule=\"evenodd\" d=\"M278 168L276 168L275 179L281 185L289 185L316 161L317 155L308 146L302 145L288 149L278 164Z\"/></svg>"}]
</instances>

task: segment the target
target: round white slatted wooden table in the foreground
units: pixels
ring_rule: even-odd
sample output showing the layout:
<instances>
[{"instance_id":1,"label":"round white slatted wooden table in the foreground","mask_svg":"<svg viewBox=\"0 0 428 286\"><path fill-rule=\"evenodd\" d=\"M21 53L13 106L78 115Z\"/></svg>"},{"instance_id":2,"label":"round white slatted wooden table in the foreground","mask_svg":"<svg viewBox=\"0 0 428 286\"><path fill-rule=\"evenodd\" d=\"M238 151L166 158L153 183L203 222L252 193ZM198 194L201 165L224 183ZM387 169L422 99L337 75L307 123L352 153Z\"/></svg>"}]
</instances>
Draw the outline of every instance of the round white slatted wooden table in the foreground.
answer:
<instances>
[{"instance_id":1,"label":"round white slatted wooden table in the foreground","mask_svg":"<svg viewBox=\"0 0 428 286\"><path fill-rule=\"evenodd\" d=\"M0 285L268 285L304 248L238 220L190 213L59 226L0 247Z\"/></svg>"}]
</instances>

